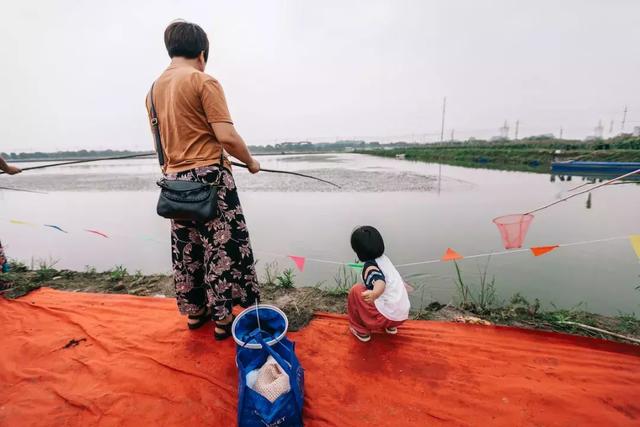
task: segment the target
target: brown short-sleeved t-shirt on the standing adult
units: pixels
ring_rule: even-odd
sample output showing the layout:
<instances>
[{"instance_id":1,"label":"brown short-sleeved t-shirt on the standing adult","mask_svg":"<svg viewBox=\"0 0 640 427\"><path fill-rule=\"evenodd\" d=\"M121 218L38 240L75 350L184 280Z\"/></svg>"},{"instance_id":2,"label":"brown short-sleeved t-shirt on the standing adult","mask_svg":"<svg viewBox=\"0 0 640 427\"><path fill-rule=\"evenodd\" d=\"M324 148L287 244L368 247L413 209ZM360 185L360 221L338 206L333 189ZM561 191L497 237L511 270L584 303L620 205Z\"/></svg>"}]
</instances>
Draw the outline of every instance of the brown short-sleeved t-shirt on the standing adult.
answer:
<instances>
[{"instance_id":1,"label":"brown short-sleeved t-shirt on the standing adult","mask_svg":"<svg viewBox=\"0 0 640 427\"><path fill-rule=\"evenodd\" d=\"M191 66L171 65L156 80L153 102L165 173L220 163L222 146L211 123L233 122L222 86L216 79ZM151 121L148 96L146 105Z\"/></svg>"}]
</instances>

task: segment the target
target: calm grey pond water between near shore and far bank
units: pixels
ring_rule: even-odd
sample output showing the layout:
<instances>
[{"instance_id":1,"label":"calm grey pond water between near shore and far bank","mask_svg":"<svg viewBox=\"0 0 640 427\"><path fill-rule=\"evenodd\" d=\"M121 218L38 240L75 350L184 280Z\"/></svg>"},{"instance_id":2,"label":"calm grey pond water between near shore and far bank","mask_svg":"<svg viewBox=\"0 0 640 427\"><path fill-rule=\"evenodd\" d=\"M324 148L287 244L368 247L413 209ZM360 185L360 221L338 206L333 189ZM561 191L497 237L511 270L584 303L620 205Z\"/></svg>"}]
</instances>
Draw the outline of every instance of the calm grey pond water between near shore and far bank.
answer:
<instances>
[{"instance_id":1,"label":"calm grey pond water between near shore and far bank","mask_svg":"<svg viewBox=\"0 0 640 427\"><path fill-rule=\"evenodd\" d=\"M440 258L448 247L462 255L500 252L494 217L531 210L556 200L583 181L547 174L503 172L385 159L357 154L261 157L265 168L317 175L341 190L302 178L236 170L258 270L287 255L350 262L356 225L378 227L396 264ZM28 164L22 164L23 167ZM129 272L170 271L167 221L155 215L159 177L154 160L65 166L1 176L0 184L44 191L0 191L0 238L12 258L57 268ZM536 214L525 247L640 234L640 186L605 187ZM11 223L20 220L36 225ZM58 225L62 233L42 224ZM84 232L99 230L110 237ZM332 286L339 266L309 260L299 285ZM487 268L500 299L516 292L545 305L603 314L640 311L640 264L628 240L559 248L545 256L528 252L460 262L467 283ZM452 263L401 268L416 291L414 307L455 297Z\"/></svg>"}]
</instances>

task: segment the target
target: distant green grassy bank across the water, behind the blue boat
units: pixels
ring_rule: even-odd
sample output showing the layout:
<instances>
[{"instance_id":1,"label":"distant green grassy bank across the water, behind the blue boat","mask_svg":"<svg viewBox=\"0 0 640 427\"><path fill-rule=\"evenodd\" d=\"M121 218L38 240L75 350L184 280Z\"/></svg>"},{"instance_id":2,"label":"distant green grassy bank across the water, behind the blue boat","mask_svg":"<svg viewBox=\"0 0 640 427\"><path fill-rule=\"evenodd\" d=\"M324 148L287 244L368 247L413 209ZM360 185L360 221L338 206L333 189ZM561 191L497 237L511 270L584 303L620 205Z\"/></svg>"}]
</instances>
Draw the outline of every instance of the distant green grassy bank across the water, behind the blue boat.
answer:
<instances>
[{"instance_id":1,"label":"distant green grassy bank across the water, behind the blue boat","mask_svg":"<svg viewBox=\"0 0 640 427\"><path fill-rule=\"evenodd\" d=\"M520 141L467 141L421 147L369 150L366 154L455 166L548 173L553 161L640 162L640 137L620 136L594 142L553 138Z\"/></svg>"}]
</instances>

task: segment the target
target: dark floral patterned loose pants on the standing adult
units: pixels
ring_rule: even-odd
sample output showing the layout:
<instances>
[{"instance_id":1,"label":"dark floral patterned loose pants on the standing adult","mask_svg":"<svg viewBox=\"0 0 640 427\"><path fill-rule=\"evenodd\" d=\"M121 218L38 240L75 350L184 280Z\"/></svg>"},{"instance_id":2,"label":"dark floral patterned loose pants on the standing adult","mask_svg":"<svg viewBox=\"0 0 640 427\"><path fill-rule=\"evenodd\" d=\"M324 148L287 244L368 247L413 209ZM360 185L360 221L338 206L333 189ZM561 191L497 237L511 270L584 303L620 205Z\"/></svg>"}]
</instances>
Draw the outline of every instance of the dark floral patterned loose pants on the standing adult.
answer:
<instances>
[{"instance_id":1,"label":"dark floral patterned loose pants on the standing adult","mask_svg":"<svg viewBox=\"0 0 640 427\"><path fill-rule=\"evenodd\" d=\"M221 176L220 176L221 174ZM253 251L233 175L207 166L169 179L215 182L218 216L209 222L171 221L171 252L178 309L196 314L212 307L213 316L224 319L233 305L248 307L259 299Z\"/></svg>"}]
</instances>

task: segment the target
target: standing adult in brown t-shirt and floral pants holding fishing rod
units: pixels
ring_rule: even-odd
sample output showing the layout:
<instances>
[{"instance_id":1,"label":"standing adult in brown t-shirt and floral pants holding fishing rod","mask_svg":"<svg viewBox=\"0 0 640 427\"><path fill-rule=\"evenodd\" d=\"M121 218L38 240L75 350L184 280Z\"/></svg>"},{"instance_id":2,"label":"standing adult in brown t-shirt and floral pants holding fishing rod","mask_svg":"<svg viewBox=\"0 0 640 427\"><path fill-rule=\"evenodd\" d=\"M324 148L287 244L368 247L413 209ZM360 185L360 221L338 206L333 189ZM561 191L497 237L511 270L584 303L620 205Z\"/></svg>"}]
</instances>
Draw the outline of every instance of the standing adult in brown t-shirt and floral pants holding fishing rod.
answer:
<instances>
[{"instance_id":1,"label":"standing adult in brown t-shirt and floral pants holding fishing rod","mask_svg":"<svg viewBox=\"0 0 640 427\"><path fill-rule=\"evenodd\" d=\"M233 305L247 307L259 296L249 233L225 151L251 173L260 171L260 164L233 126L220 83L204 73L207 34L196 24L176 21L165 30L164 42L171 63L152 87L163 172L169 179L222 184L217 218L171 222L178 309L188 316L189 329L213 318L215 338L222 340L231 335ZM151 120L149 96L147 111Z\"/></svg>"}]
</instances>

